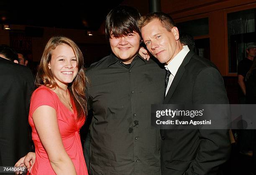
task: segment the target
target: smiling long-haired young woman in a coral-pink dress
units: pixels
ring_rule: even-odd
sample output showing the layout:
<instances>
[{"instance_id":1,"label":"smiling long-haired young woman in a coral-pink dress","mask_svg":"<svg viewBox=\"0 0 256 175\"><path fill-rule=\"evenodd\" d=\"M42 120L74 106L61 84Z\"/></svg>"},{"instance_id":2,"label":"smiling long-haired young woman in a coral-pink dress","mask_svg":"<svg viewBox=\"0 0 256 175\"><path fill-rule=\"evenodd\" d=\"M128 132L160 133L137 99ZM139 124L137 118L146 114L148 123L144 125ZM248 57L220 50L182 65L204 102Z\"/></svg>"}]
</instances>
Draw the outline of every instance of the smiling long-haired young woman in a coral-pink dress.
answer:
<instances>
[{"instance_id":1,"label":"smiling long-haired young woman in a coral-pink dress","mask_svg":"<svg viewBox=\"0 0 256 175\"><path fill-rule=\"evenodd\" d=\"M87 113L83 63L69 38L46 44L28 117L36 148L31 175L87 175L79 135Z\"/></svg>"}]
</instances>

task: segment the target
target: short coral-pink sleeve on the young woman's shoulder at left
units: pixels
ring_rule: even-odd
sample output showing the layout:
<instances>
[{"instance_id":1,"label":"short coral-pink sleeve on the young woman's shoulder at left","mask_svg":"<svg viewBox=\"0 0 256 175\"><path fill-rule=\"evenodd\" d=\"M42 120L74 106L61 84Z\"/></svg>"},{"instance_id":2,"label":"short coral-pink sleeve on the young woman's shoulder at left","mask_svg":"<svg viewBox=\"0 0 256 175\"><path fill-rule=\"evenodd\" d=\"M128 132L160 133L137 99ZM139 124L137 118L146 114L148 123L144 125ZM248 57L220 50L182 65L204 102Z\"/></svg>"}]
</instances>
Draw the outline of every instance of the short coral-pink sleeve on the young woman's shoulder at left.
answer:
<instances>
[{"instance_id":1,"label":"short coral-pink sleeve on the young woman's shoulder at left","mask_svg":"<svg viewBox=\"0 0 256 175\"><path fill-rule=\"evenodd\" d=\"M54 97L53 92L47 87L39 87L36 89L31 97L30 102L30 116L32 117L35 110L40 106L50 106L53 107L57 111L57 102L56 97Z\"/></svg>"}]
</instances>

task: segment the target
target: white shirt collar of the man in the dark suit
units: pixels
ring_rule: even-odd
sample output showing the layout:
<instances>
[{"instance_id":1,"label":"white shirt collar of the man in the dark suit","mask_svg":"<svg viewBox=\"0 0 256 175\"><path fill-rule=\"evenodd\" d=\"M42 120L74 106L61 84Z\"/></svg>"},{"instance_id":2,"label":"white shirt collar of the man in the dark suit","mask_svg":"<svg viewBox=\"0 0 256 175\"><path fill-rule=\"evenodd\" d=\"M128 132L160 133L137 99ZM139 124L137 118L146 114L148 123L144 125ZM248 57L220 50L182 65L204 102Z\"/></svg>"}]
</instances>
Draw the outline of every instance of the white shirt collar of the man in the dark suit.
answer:
<instances>
[{"instance_id":1,"label":"white shirt collar of the man in the dark suit","mask_svg":"<svg viewBox=\"0 0 256 175\"><path fill-rule=\"evenodd\" d=\"M169 70L172 75L175 76L188 52L189 48L187 45L184 45L183 49L169 62L169 64L164 66L165 69Z\"/></svg>"}]
</instances>

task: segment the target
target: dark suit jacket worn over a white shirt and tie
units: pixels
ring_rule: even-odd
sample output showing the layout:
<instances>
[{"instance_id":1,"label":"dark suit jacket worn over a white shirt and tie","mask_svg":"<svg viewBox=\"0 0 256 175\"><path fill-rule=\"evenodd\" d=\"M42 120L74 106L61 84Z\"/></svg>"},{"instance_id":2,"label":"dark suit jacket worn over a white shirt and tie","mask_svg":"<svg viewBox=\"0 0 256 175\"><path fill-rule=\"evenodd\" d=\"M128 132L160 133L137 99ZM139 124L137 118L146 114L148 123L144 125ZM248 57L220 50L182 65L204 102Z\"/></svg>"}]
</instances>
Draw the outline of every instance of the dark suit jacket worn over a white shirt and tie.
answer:
<instances>
[{"instance_id":1,"label":"dark suit jacket worn over a white shirt and tie","mask_svg":"<svg viewBox=\"0 0 256 175\"><path fill-rule=\"evenodd\" d=\"M212 62L189 51L164 104L228 104L223 78ZM228 130L161 130L163 175L215 175L229 158Z\"/></svg>"}]
</instances>

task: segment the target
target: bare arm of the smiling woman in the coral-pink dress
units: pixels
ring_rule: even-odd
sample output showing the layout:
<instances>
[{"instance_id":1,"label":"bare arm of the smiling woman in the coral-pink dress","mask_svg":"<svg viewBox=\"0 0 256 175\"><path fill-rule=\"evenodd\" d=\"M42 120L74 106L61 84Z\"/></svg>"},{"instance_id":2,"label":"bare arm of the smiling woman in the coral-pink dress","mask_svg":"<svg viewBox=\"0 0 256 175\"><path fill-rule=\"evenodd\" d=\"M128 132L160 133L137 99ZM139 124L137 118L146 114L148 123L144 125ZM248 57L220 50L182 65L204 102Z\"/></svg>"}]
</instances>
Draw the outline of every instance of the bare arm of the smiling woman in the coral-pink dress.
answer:
<instances>
[{"instance_id":1,"label":"bare arm of the smiling woman in the coral-pink dress","mask_svg":"<svg viewBox=\"0 0 256 175\"><path fill-rule=\"evenodd\" d=\"M46 105L38 107L33 113L33 122L54 172L57 175L77 175L63 146L55 109Z\"/></svg>"}]
</instances>

